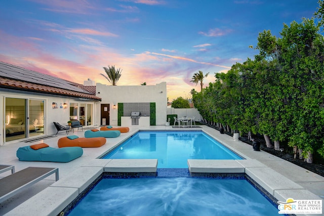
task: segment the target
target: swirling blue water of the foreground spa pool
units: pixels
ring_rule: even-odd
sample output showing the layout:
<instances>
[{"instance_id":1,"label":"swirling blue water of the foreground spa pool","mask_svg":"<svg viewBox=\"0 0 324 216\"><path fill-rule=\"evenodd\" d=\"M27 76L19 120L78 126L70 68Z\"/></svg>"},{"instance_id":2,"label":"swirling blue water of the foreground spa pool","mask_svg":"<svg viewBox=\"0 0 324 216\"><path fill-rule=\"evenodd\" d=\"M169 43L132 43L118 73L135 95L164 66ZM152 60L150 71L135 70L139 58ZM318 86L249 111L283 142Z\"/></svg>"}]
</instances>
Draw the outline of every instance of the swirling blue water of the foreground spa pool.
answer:
<instances>
[{"instance_id":1,"label":"swirling blue water of the foreground spa pool","mask_svg":"<svg viewBox=\"0 0 324 216\"><path fill-rule=\"evenodd\" d=\"M68 214L278 215L245 179L102 179Z\"/></svg>"}]
</instances>

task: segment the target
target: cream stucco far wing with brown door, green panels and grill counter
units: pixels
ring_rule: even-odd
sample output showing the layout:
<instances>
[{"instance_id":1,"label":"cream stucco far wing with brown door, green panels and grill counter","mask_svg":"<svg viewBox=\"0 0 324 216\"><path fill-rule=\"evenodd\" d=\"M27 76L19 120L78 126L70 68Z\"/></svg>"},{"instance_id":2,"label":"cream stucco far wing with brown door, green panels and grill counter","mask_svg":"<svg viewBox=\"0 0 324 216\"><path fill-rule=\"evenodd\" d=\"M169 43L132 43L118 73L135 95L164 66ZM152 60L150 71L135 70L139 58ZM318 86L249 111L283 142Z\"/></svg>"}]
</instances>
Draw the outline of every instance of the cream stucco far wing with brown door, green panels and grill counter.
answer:
<instances>
[{"instance_id":1,"label":"cream stucco far wing with brown door, green panels and grill counter","mask_svg":"<svg viewBox=\"0 0 324 216\"><path fill-rule=\"evenodd\" d=\"M156 85L124 86L97 83L96 87L96 95L102 99L101 107L97 106L96 112L100 124L135 126L130 116L131 112L138 111L141 113L138 126L165 125L167 120L166 82ZM106 119L106 122L102 121L104 107L107 107L106 111L110 112L110 118ZM155 108L151 109L152 107Z\"/></svg>"}]
</instances>

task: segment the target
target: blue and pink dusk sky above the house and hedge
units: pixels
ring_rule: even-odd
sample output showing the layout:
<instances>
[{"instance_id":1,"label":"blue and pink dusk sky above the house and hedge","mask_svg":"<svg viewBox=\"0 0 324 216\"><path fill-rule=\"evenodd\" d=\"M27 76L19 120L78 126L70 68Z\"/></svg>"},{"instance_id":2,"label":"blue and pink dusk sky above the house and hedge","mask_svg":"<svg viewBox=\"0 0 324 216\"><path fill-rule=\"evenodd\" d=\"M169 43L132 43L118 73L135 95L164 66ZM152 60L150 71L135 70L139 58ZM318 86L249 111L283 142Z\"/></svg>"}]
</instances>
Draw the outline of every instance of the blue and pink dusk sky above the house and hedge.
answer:
<instances>
[{"instance_id":1,"label":"blue and pink dusk sky above the house and hedge","mask_svg":"<svg viewBox=\"0 0 324 216\"><path fill-rule=\"evenodd\" d=\"M167 82L168 98L190 97L209 76L254 59L257 37L311 18L317 0L3 0L0 61L83 84L110 85L103 67L123 69L117 85Z\"/></svg>"}]
</instances>

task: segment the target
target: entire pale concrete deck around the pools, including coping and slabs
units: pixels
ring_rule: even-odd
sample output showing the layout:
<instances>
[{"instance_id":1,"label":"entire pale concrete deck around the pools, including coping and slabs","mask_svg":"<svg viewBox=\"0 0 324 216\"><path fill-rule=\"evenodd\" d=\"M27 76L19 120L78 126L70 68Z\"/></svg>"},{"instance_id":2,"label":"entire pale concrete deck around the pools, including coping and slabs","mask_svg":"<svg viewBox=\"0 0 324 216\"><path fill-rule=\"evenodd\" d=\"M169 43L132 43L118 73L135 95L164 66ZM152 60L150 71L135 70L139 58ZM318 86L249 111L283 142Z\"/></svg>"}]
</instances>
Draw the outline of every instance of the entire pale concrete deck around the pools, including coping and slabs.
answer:
<instances>
[{"instance_id":1,"label":"entire pale concrete deck around the pools, including coping and slabs","mask_svg":"<svg viewBox=\"0 0 324 216\"><path fill-rule=\"evenodd\" d=\"M17 149L22 146L44 142L57 148L58 139L64 137L65 133L33 143L17 142L0 146L0 164L14 165L16 171L28 166L58 167L60 178L55 182L55 177L48 177L4 201L0 204L0 215L58 215L104 171L152 172L156 170L155 159L97 159L136 133L138 129L139 127L130 127L129 133L122 133L117 138L107 138L107 143L100 148L84 148L82 157L68 163L19 161L16 157ZM172 128L172 126L150 126L140 129L182 130L182 128ZM195 131L202 129L247 160L188 160L191 172L245 172L271 195L284 202L287 198L324 198L324 177L264 151L253 151L252 146L241 141L234 141L232 137L220 134L211 127L201 125L201 128L192 129ZM84 137L84 132L75 131L74 135ZM9 175L11 171L3 172L0 178Z\"/></svg>"}]
</instances>

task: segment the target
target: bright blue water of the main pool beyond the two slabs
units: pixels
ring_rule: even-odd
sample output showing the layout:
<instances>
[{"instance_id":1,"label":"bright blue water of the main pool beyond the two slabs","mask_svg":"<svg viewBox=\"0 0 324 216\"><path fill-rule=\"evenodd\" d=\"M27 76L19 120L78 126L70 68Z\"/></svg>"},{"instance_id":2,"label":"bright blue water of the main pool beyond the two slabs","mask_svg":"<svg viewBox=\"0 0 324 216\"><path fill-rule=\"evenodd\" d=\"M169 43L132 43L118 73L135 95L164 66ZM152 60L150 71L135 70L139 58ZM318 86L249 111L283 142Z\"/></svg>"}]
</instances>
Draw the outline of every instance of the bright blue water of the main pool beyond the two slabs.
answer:
<instances>
[{"instance_id":1,"label":"bright blue water of the main pool beyond the two slabs","mask_svg":"<svg viewBox=\"0 0 324 216\"><path fill-rule=\"evenodd\" d=\"M201 131L140 131L104 159L157 159L158 168L187 168L188 159L243 159Z\"/></svg>"}]
</instances>

